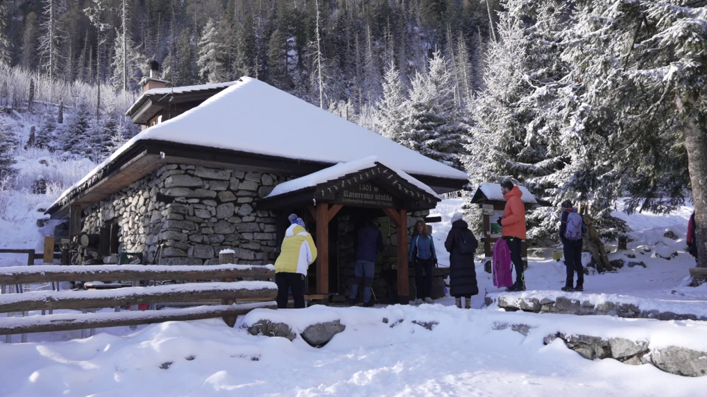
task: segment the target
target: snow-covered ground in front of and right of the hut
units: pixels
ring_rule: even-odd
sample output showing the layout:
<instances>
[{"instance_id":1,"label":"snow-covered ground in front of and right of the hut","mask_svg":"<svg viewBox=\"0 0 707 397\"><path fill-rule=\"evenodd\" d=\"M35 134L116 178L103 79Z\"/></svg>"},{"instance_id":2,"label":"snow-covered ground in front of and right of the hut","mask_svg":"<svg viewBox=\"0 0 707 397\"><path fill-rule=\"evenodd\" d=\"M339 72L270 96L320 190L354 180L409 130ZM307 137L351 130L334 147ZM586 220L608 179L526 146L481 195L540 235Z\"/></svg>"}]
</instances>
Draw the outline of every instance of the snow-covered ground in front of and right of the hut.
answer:
<instances>
[{"instance_id":1,"label":"snow-covered ground in front of and right of the hut","mask_svg":"<svg viewBox=\"0 0 707 397\"><path fill-rule=\"evenodd\" d=\"M433 214L443 217L433 235L442 264L448 263L443 242L450 218L461 204L460 199L445 200ZM618 273L588 275L585 297L621 295L689 309L707 306L707 285L684 285L687 269L694 266L683 247L691 211L685 206L667 216L615 214L629 223L635 240L629 251L647 268L624 266ZM663 237L667 229L678 239ZM653 256L658 246L677 251L677 256ZM563 264L552 259L531 261L526 282L532 290L525 293L557 293L564 271ZM484 293L500 290L493 288L481 263L477 275L481 294L473 302L481 308ZM250 336L238 326L228 328L221 319L155 324L139 331L110 328L77 340L66 339L78 338L80 331L30 334L32 343L0 343L0 395L594 397L703 396L707 389L707 377L678 377L650 365L610 359L585 360L561 340L542 343L547 333L562 329L705 351L701 336L707 326L701 321L506 313L493 307L462 310L452 306L450 297L421 307L310 307L288 316L315 318L327 310L345 313L341 316L348 325L321 349L300 338L290 342ZM390 328L382 317L407 321ZM428 331L411 324L413 319L439 325ZM528 336L510 329L494 331L499 321L537 328Z\"/></svg>"}]
</instances>

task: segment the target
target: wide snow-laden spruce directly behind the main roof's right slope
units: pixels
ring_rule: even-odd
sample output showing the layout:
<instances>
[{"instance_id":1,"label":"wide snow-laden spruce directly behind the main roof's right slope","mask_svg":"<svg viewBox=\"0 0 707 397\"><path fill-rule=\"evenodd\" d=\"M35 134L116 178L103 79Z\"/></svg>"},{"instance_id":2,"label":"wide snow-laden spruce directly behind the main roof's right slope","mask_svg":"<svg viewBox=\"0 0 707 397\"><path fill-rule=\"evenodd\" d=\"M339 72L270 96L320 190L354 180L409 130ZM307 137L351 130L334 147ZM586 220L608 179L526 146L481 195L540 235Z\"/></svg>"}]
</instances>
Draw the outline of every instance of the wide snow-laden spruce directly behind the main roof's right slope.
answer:
<instances>
[{"instance_id":1,"label":"wide snow-laden spruce directly behind the main roof's right slope","mask_svg":"<svg viewBox=\"0 0 707 397\"><path fill-rule=\"evenodd\" d=\"M397 141L428 158L461 169L462 139L467 130L455 105L452 75L439 51L428 64L427 73L416 73L412 80Z\"/></svg>"}]
</instances>

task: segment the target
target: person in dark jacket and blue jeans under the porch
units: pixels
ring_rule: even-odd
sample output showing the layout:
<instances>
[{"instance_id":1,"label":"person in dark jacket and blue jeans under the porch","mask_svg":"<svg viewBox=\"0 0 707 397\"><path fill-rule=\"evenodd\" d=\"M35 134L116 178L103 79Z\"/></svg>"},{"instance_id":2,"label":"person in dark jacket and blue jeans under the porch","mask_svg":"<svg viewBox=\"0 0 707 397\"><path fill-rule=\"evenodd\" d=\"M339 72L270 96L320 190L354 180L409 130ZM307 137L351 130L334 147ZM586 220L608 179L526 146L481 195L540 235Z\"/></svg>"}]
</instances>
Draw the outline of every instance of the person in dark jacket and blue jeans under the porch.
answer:
<instances>
[{"instance_id":1,"label":"person in dark jacket and blue jeans under the porch","mask_svg":"<svg viewBox=\"0 0 707 397\"><path fill-rule=\"evenodd\" d=\"M373 273L375 273L375 260L378 252L383 251L383 236L373 220L368 220L366 225L358 229L358 244L356 244L356 267L354 268L354 283L349 292L349 304L356 303L358 285L363 281L363 306L373 306L370 302Z\"/></svg>"}]
</instances>

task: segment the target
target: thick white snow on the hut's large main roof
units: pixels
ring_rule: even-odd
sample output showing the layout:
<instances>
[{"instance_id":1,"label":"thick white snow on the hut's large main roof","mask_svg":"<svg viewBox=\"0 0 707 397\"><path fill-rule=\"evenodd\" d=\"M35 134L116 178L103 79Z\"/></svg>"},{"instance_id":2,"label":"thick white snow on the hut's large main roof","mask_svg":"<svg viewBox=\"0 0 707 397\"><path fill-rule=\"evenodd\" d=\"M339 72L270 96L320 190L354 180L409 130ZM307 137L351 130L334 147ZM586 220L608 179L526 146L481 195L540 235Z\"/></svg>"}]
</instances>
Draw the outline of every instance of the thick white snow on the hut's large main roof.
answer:
<instances>
[{"instance_id":1,"label":"thick white snow on the hut's large main roof","mask_svg":"<svg viewBox=\"0 0 707 397\"><path fill-rule=\"evenodd\" d=\"M349 162L373 155L385 159L387 167L408 174L467 179L465 172L427 158L255 78L242 77L226 84L230 87L201 105L141 131L81 181L64 191L54 206L76 187L89 179L97 179L100 170L141 140L329 163ZM199 86L186 89L194 87Z\"/></svg>"}]
</instances>

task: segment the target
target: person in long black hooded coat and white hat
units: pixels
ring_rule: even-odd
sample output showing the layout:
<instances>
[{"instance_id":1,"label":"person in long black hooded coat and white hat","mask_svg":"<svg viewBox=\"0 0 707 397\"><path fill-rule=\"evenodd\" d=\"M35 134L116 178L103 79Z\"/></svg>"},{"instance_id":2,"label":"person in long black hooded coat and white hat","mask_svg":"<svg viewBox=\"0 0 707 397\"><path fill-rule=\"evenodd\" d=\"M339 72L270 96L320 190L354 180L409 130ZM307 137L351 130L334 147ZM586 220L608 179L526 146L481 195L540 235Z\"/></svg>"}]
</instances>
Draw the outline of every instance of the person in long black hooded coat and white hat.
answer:
<instances>
[{"instance_id":1,"label":"person in long black hooded coat and white hat","mask_svg":"<svg viewBox=\"0 0 707 397\"><path fill-rule=\"evenodd\" d=\"M474 237L474 233L469 230L469 225L462 220L461 213L452 215L452 230L447 235L444 246L450 253L450 294L456 298L457 307L462 308L462 297L464 297L466 299L464 307L471 309L472 295L479 293L477 269L474 266L474 251L479 247L479 242Z\"/></svg>"}]
</instances>

